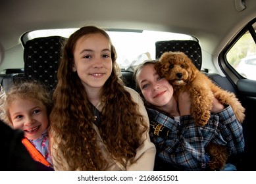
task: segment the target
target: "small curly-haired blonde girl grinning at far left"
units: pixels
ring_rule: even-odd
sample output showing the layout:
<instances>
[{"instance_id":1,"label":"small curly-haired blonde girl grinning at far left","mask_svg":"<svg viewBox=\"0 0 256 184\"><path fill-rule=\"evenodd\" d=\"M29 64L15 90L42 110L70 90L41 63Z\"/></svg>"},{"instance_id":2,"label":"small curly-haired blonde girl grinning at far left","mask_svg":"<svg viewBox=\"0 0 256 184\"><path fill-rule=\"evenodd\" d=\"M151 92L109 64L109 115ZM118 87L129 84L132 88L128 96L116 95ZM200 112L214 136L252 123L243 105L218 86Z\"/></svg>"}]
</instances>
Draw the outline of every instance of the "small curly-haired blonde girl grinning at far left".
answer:
<instances>
[{"instance_id":1,"label":"small curly-haired blonde girl grinning at far left","mask_svg":"<svg viewBox=\"0 0 256 184\"><path fill-rule=\"evenodd\" d=\"M8 122L13 129L21 129L24 137L28 138L29 146L35 147L47 160L46 165L51 168L53 162L49 152L47 128L52 106L51 95L47 88L33 81L13 85L5 94L3 103L5 122Z\"/></svg>"}]
</instances>

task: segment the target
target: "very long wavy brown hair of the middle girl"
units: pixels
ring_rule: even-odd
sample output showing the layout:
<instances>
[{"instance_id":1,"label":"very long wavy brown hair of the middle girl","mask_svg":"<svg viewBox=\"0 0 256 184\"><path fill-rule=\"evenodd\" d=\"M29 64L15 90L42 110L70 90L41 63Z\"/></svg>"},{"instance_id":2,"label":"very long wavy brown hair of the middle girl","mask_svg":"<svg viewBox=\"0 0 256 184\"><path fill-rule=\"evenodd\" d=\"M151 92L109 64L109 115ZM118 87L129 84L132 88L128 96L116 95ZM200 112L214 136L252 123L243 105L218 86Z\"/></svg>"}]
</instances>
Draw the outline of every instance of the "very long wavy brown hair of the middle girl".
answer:
<instances>
[{"instance_id":1,"label":"very long wavy brown hair of the middle girl","mask_svg":"<svg viewBox=\"0 0 256 184\"><path fill-rule=\"evenodd\" d=\"M97 146L97 133L93 127L93 113L88 95L77 72L72 72L76 41L84 35L97 33L105 35L111 43L107 32L95 26L82 27L66 40L57 74L58 83L53 93L50 135L52 134L58 149L63 152L69 170L107 168L107 160ZM111 58L113 70L101 92L104 106L99 133L111 157L126 167L128 160L131 163L136 162L136 149L144 141L141 140L141 135L148 129L138 104L132 101L130 93L124 89L124 83L118 76L120 70L112 43ZM61 164L61 158L57 160Z\"/></svg>"}]
</instances>

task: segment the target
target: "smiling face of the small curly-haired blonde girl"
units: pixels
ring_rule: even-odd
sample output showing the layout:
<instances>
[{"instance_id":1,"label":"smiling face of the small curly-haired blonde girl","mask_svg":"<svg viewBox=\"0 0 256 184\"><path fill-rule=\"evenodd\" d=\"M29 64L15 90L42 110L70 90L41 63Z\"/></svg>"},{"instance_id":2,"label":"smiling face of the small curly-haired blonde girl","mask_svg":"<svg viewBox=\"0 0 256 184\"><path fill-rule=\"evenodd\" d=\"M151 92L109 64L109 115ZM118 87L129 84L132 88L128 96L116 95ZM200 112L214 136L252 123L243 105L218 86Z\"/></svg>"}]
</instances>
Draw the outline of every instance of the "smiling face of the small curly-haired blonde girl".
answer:
<instances>
[{"instance_id":1,"label":"smiling face of the small curly-haired blonde girl","mask_svg":"<svg viewBox=\"0 0 256 184\"><path fill-rule=\"evenodd\" d=\"M49 124L46 106L37 99L17 97L10 105L9 114L13 128L23 130L28 139L38 139Z\"/></svg>"}]
</instances>

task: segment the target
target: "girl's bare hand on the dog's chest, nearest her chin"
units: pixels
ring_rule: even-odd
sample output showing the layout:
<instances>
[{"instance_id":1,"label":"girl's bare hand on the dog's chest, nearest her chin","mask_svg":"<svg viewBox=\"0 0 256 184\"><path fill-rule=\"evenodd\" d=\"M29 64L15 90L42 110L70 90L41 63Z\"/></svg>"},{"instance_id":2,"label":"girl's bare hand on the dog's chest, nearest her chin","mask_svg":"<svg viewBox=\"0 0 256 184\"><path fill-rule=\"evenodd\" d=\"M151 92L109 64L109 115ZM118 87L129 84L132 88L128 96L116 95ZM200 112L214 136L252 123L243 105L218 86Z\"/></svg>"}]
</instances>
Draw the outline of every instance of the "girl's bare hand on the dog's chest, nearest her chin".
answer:
<instances>
[{"instance_id":1,"label":"girl's bare hand on the dog's chest, nearest her chin","mask_svg":"<svg viewBox=\"0 0 256 184\"><path fill-rule=\"evenodd\" d=\"M178 108L180 116L190 115L191 99L188 92L180 93L178 96Z\"/></svg>"}]
</instances>

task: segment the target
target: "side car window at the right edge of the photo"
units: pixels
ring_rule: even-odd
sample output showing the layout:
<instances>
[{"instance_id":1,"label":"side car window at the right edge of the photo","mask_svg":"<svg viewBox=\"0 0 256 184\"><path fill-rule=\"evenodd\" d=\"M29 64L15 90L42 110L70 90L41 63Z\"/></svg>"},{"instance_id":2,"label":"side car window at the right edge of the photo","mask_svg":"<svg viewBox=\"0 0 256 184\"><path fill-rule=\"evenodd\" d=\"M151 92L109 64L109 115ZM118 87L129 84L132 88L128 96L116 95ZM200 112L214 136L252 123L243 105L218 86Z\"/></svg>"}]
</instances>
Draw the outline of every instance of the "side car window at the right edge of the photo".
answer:
<instances>
[{"instance_id":1,"label":"side car window at the right edge of the photo","mask_svg":"<svg viewBox=\"0 0 256 184\"><path fill-rule=\"evenodd\" d=\"M249 80L256 80L255 28L256 23L247 26L247 30L226 55L226 60L234 70Z\"/></svg>"}]
</instances>

